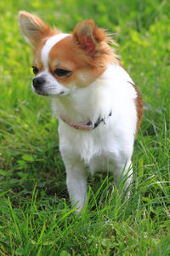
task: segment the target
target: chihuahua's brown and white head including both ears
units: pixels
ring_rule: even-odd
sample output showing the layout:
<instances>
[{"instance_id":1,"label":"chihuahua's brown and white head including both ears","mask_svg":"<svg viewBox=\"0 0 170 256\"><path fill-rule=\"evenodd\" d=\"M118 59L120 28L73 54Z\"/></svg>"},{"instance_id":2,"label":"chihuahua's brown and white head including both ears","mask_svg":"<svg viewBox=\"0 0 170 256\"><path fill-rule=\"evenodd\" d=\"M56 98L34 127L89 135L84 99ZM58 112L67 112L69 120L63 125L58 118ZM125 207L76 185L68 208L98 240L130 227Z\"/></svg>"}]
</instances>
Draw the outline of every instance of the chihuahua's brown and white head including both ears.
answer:
<instances>
[{"instance_id":1,"label":"chihuahua's brown and white head including both ears","mask_svg":"<svg viewBox=\"0 0 170 256\"><path fill-rule=\"evenodd\" d=\"M94 20L77 24L72 34L51 29L37 16L20 11L20 30L33 47L32 90L43 96L64 96L87 87L116 62L113 43Z\"/></svg>"}]
</instances>

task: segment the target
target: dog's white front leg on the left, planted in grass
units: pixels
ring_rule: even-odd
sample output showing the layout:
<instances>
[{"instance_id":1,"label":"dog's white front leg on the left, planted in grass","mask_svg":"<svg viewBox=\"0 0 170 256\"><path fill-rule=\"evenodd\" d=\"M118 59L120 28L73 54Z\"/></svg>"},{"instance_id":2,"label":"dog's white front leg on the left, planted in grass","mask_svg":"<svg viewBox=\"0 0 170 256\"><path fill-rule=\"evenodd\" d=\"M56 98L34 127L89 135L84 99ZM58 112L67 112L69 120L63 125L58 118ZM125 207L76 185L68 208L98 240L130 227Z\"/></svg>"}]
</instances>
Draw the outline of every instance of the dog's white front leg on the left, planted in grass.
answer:
<instances>
[{"instance_id":1,"label":"dog's white front leg on the left, planted in grass","mask_svg":"<svg viewBox=\"0 0 170 256\"><path fill-rule=\"evenodd\" d=\"M71 206L81 211L87 199L86 173L82 164L66 166L66 183L71 199Z\"/></svg>"}]
</instances>

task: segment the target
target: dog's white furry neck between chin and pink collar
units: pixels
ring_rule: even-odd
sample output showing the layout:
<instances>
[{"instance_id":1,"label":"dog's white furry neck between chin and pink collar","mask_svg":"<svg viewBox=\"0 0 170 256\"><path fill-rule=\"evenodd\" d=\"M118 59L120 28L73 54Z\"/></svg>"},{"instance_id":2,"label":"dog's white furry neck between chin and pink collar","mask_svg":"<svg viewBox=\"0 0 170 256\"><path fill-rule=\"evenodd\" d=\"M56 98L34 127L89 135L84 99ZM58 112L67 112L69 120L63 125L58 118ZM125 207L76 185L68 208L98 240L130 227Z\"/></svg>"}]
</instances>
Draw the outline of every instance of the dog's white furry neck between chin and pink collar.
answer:
<instances>
[{"instance_id":1,"label":"dog's white furry neck between chin and pink collar","mask_svg":"<svg viewBox=\"0 0 170 256\"><path fill-rule=\"evenodd\" d=\"M89 122L95 125L101 121L105 123L112 110L105 75L86 88L74 90L70 95L53 97L52 108L60 119L73 125Z\"/></svg>"}]
</instances>

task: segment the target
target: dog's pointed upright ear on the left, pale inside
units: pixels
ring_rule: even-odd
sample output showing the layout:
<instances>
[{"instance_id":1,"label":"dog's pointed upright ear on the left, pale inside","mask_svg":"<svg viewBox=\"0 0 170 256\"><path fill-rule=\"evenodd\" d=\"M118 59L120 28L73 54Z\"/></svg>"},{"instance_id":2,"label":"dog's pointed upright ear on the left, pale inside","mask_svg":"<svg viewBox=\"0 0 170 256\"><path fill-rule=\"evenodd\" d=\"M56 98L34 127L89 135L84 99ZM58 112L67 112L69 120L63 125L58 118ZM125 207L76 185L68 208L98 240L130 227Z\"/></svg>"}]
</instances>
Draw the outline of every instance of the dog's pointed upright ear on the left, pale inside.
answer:
<instances>
[{"instance_id":1,"label":"dog's pointed upright ear on the left, pale inside","mask_svg":"<svg viewBox=\"0 0 170 256\"><path fill-rule=\"evenodd\" d=\"M42 38L50 33L50 28L37 16L31 15L26 11L19 13L20 30L23 33L26 41L33 46L36 46Z\"/></svg>"}]
</instances>

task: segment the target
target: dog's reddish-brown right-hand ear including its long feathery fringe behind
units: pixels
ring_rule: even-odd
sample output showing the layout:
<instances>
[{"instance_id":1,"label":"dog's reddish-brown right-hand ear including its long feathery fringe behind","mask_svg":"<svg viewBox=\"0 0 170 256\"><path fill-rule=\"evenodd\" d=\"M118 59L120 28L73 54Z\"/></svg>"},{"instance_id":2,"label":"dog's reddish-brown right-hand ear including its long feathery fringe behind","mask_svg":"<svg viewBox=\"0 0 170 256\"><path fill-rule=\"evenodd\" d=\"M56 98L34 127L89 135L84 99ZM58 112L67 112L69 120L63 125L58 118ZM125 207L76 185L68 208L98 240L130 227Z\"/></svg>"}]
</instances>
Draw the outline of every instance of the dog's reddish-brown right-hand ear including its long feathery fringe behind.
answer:
<instances>
[{"instance_id":1,"label":"dog's reddish-brown right-hand ear including its long feathery fringe behind","mask_svg":"<svg viewBox=\"0 0 170 256\"><path fill-rule=\"evenodd\" d=\"M116 43L105 29L95 26L94 20L78 23L73 31L77 54L86 55L90 66L105 67L111 62L118 63L118 55L109 44Z\"/></svg>"}]
</instances>

